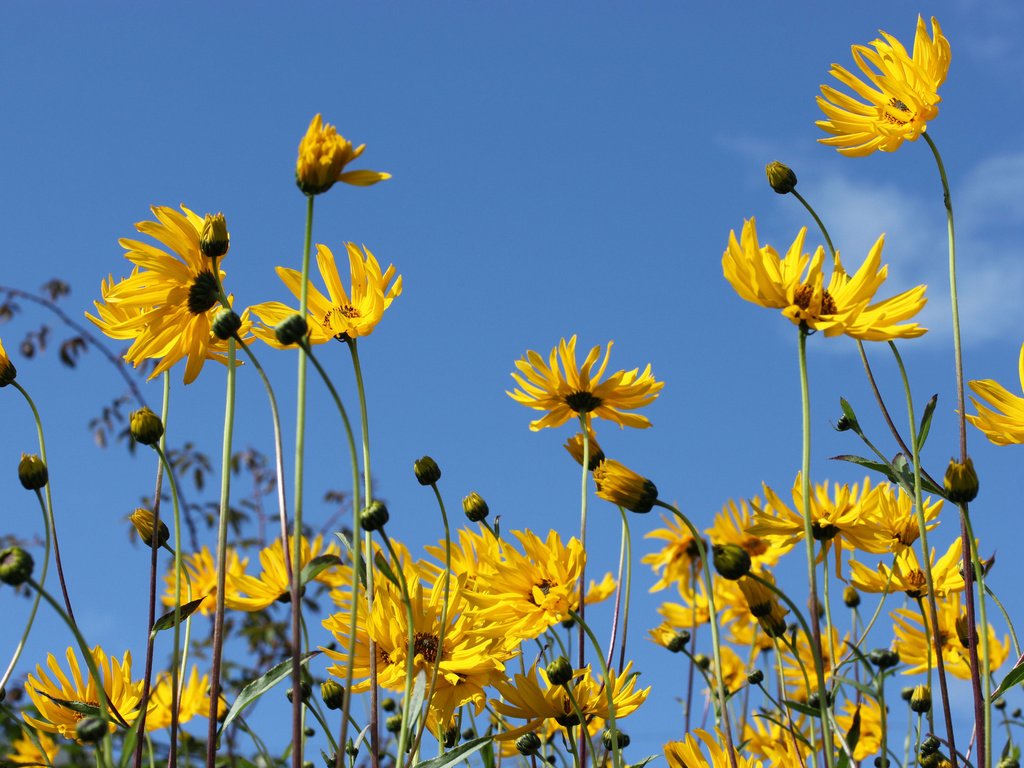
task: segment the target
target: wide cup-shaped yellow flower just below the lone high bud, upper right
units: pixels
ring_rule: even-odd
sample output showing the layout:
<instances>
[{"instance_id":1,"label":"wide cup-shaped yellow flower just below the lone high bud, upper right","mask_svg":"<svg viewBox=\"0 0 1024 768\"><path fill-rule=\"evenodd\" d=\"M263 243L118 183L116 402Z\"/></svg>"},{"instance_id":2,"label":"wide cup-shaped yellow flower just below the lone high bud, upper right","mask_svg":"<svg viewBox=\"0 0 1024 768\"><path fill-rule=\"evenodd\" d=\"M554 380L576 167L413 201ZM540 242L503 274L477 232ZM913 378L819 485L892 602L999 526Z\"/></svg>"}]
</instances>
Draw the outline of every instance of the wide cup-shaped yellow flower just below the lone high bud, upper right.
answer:
<instances>
[{"instance_id":1,"label":"wide cup-shaped yellow flower just below the lone high bud, upper right","mask_svg":"<svg viewBox=\"0 0 1024 768\"><path fill-rule=\"evenodd\" d=\"M862 341L910 339L925 329L916 323L900 325L925 306L925 287L876 303L889 267L882 265L885 236L876 241L857 272L850 276L836 255L831 278L824 283L824 251L804 253L807 227L797 233L785 258L771 246L761 246L755 220L743 222L739 240L729 232L729 246L722 255L722 271L736 293L763 307L781 309L795 325L804 324L825 336L845 334Z\"/></svg>"}]
</instances>

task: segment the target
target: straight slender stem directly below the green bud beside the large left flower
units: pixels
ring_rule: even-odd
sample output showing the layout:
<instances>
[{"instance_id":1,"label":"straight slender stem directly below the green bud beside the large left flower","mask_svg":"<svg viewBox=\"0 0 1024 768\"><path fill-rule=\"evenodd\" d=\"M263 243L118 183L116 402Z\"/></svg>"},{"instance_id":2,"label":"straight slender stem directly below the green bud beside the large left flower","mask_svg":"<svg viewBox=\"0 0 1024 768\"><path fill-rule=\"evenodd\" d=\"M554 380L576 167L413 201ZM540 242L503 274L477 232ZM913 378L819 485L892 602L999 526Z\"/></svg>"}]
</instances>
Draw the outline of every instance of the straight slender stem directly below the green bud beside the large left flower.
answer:
<instances>
[{"instance_id":1,"label":"straight slender stem directly below the green bud beside the large left flower","mask_svg":"<svg viewBox=\"0 0 1024 768\"><path fill-rule=\"evenodd\" d=\"M217 595L216 607L213 612L213 647L211 649L212 658L210 664L210 714L206 740L206 768L214 768L217 760L220 663L224 647L224 593L226 591L224 585L227 581L227 518L230 514L231 497L231 437L234 430L234 339L228 339L224 437L220 455L220 514L217 520Z\"/></svg>"}]
</instances>

